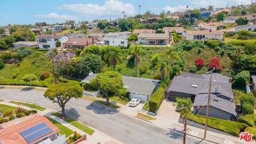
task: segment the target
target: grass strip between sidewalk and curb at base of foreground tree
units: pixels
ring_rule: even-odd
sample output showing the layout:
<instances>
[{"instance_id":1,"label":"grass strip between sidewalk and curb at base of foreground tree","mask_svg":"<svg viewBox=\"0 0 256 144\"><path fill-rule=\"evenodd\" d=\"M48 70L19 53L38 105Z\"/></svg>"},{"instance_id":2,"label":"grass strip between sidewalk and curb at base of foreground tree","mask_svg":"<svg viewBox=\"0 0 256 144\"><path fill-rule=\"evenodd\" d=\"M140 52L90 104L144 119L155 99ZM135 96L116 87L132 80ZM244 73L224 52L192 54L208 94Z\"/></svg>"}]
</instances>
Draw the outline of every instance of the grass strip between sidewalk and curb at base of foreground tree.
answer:
<instances>
[{"instance_id":1,"label":"grass strip between sidewalk and curb at base of foreground tree","mask_svg":"<svg viewBox=\"0 0 256 144\"><path fill-rule=\"evenodd\" d=\"M60 113L52 113L51 115L56 116L56 117L60 117L61 116ZM89 127L87 127L87 126L85 126L85 125L75 121L72 118L65 118L64 121L67 122L67 123L70 123L71 125L77 127L78 129L84 131L87 134L92 135L94 133L94 130L92 130Z\"/></svg>"}]
</instances>

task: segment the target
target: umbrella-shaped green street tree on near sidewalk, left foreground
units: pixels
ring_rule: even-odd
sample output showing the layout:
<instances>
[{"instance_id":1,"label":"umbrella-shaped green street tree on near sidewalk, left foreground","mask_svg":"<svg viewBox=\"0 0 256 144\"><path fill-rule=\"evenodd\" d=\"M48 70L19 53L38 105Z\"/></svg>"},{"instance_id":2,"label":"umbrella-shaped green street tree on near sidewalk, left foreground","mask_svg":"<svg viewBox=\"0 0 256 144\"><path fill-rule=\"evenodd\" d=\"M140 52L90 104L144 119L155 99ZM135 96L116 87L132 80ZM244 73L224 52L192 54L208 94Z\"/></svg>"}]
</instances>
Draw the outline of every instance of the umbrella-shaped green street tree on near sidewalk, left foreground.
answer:
<instances>
[{"instance_id":1,"label":"umbrella-shaped green street tree on near sidewalk, left foreground","mask_svg":"<svg viewBox=\"0 0 256 144\"><path fill-rule=\"evenodd\" d=\"M61 116L65 118L66 103L72 98L78 99L83 97L83 91L79 84L73 82L53 84L44 92L44 97L53 103L58 103L61 107Z\"/></svg>"}]
</instances>

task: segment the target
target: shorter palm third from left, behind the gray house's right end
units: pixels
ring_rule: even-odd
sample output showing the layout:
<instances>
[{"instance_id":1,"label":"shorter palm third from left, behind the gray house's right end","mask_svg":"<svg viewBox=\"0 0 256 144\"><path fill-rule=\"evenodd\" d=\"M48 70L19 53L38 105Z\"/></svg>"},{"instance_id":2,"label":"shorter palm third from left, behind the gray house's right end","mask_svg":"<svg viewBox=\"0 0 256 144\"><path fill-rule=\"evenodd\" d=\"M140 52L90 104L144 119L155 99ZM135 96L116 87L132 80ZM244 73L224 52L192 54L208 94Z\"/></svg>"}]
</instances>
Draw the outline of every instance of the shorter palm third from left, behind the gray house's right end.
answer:
<instances>
[{"instance_id":1,"label":"shorter palm third from left, behind the gray house's right end","mask_svg":"<svg viewBox=\"0 0 256 144\"><path fill-rule=\"evenodd\" d=\"M165 58L159 59L155 66L155 69L158 69L158 68L160 68L160 70L161 70L161 79L162 79L162 81L164 81L165 75L170 70L170 61Z\"/></svg>"}]
</instances>

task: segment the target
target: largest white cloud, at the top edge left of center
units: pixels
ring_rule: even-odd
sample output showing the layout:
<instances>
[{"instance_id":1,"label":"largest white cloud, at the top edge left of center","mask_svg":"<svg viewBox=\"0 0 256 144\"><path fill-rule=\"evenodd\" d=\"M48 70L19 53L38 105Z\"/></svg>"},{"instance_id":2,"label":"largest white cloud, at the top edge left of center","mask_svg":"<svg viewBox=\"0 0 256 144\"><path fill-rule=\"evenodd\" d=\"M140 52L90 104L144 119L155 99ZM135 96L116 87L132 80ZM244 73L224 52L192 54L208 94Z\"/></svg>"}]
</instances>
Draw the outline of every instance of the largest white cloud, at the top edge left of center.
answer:
<instances>
[{"instance_id":1,"label":"largest white cloud, at the top edge left of center","mask_svg":"<svg viewBox=\"0 0 256 144\"><path fill-rule=\"evenodd\" d=\"M123 3L118 0L106 1L102 6L96 4L62 4L56 8L58 10L75 12L86 18L115 17L122 15L122 11L127 15L135 14L135 8L131 3Z\"/></svg>"}]
</instances>

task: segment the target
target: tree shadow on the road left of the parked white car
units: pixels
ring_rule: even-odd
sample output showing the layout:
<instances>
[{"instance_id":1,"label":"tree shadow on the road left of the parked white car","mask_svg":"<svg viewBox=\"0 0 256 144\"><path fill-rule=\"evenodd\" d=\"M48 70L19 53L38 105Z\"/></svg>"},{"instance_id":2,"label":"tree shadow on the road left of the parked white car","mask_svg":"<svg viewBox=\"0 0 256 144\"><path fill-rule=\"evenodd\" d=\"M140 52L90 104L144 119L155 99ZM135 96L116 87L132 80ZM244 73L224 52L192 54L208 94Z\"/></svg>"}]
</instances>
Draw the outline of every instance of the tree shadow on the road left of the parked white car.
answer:
<instances>
[{"instance_id":1,"label":"tree shadow on the road left of the parked white car","mask_svg":"<svg viewBox=\"0 0 256 144\"><path fill-rule=\"evenodd\" d=\"M105 115L105 114L115 114L116 111L104 106L101 106L95 102L85 107L87 110L93 110L95 114Z\"/></svg>"}]
</instances>

